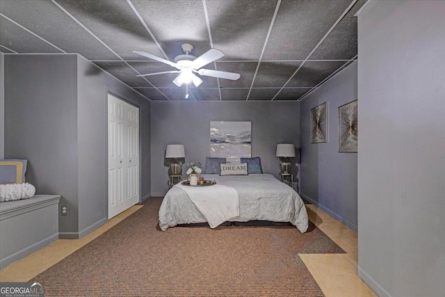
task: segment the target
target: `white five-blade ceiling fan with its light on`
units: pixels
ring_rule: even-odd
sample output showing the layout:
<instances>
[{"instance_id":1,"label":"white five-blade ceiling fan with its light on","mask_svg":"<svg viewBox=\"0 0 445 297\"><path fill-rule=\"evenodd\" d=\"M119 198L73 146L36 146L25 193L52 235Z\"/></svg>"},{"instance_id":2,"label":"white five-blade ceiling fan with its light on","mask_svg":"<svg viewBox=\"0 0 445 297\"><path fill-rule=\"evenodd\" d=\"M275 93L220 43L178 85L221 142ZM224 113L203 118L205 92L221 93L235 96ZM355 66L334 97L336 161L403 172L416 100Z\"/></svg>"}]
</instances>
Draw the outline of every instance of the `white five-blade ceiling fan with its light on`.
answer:
<instances>
[{"instance_id":1,"label":"white five-blade ceiling fan with its light on","mask_svg":"<svg viewBox=\"0 0 445 297\"><path fill-rule=\"evenodd\" d=\"M183 45L181 45L181 48L185 54L176 56L175 62L165 60L164 58L159 58L158 56L154 56L152 54L148 54L145 51L133 51L134 54L152 58L153 60L168 64L177 69L173 71L139 74L136 75L136 77L148 77L150 75L157 74L179 73L176 79L173 80L173 83L175 83L175 85L179 87L182 86L184 83L186 83L186 86L188 86L188 83L191 82L193 82L195 87L200 86L200 84L202 83L202 79L200 79L200 77L198 77L195 73L200 74L204 77L217 77L219 79L231 79L232 81L236 81L236 79L239 79L241 77L238 73L202 68L205 65L218 60L218 58L222 58L224 56L223 51L220 51L218 49L209 49L209 51L206 51L204 54L196 58L195 56L190 54L193 49L193 45L184 43Z\"/></svg>"}]
</instances>

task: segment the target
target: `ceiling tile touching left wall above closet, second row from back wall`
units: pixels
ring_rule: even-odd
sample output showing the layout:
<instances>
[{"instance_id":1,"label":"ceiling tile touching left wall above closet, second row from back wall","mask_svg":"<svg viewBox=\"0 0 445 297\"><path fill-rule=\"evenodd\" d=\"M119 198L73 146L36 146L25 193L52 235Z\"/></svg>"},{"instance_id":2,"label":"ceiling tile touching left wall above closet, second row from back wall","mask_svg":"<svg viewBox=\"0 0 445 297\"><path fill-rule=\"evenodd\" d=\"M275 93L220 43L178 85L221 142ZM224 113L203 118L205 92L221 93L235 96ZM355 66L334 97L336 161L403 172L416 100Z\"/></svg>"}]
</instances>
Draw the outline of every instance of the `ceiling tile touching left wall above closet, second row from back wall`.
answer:
<instances>
[{"instance_id":1,"label":"ceiling tile touching left wall above closet, second row from back wall","mask_svg":"<svg viewBox=\"0 0 445 297\"><path fill-rule=\"evenodd\" d=\"M142 77L136 77L137 73L122 61L115 62L94 62L97 66L113 75L113 77L127 83L131 87L152 87Z\"/></svg>"}]
</instances>

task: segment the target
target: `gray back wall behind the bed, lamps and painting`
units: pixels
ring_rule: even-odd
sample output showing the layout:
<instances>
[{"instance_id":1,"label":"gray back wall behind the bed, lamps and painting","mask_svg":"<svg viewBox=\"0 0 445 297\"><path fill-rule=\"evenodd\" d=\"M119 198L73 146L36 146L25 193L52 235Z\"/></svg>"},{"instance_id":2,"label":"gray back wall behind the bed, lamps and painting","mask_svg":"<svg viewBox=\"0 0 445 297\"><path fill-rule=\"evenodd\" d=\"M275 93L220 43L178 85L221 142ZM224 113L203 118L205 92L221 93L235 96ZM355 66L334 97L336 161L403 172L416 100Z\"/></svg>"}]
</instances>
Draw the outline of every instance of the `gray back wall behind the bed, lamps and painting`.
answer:
<instances>
[{"instance_id":1,"label":"gray back wall behind the bed, lamps and painting","mask_svg":"<svg viewBox=\"0 0 445 297\"><path fill-rule=\"evenodd\" d=\"M167 190L165 146L183 144L186 162L210 156L210 121L252 121L252 156L261 157L265 173L280 177L277 143L300 146L298 102L152 102L152 195ZM294 166L295 179L299 177ZM186 166L183 166L185 177Z\"/></svg>"}]
</instances>

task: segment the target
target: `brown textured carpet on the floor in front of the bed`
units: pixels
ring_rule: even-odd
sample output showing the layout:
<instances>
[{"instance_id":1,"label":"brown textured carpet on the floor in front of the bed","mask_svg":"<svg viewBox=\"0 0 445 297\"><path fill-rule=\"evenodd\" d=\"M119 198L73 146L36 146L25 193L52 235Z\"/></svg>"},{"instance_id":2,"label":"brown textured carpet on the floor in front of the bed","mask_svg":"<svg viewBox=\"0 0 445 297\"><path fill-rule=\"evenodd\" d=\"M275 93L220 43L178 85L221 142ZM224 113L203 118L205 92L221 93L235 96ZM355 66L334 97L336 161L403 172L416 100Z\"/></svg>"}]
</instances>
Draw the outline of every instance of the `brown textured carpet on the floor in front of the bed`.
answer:
<instances>
[{"instance_id":1,"label":"brown textured carpet on the floor in front of the bed","mask_svg":"<svg viewBox=\"0 0 445 297\"><path fill-rule=\"evenodd\" d=\"M159 230L162 198L33 280L45 296L324 296L299 253L343 252L312 223Z\"/></svg>"}]
</instances>

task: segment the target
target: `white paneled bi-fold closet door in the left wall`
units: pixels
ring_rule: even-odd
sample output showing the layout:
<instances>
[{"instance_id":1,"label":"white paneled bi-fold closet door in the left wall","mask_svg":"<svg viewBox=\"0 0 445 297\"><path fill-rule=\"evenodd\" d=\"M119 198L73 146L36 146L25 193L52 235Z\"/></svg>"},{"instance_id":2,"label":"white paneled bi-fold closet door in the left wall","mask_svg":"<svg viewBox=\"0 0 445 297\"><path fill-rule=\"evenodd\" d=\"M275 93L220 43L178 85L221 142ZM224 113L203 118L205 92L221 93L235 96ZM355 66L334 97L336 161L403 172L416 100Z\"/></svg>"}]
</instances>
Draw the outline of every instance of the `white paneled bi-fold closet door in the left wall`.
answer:
<instances>
[{"instance_id":1,"label":"white paneled bi-fold closet door in the left wall","mask_svg":"<svg viewBox=\"0 0 445 297\"><path fill-rule=\"evenodd\" d=\"M108 94L108 219L139 202L139 109Z\"/></svg>"}]
</instances>

